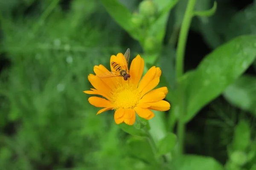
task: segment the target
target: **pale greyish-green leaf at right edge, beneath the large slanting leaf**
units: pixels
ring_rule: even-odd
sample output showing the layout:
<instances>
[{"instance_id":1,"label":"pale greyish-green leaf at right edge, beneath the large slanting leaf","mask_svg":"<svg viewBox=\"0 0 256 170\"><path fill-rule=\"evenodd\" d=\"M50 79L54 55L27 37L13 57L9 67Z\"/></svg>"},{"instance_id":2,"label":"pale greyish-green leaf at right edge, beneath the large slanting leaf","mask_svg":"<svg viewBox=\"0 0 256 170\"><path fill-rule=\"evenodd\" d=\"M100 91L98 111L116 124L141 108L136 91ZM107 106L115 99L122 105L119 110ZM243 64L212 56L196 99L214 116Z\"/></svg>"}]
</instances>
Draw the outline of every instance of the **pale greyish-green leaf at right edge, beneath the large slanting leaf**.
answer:
<instances>
[{"instance_id":1,"label":"pale greyish-green leaf at right edge, beneath the large slanting leaf","mask_svg":"<svg viewBox=\"0 0 256 170\"><path fill-rule=\"evenodd\" d=\"M233 105L256 116L256 77L244 75L228 86L224 97Z\"/></svg>"}]
</instances>

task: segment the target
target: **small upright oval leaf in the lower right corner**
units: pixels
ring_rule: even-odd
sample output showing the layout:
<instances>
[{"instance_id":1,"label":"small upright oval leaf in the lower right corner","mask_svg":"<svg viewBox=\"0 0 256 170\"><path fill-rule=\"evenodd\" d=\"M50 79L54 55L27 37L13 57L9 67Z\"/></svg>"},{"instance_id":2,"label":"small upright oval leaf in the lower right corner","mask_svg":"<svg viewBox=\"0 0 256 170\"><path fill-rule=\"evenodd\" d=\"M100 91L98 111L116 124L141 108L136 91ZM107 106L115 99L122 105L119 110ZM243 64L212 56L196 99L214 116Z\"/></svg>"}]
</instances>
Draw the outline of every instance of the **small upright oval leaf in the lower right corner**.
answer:
<instances>
[{"instance_id":1,"label":"small upright oval leaf in the lower right corner","mask_svg":"<svg viewBox=\"0 0 256 170\"><path fill-rule=\"evenodd\" d=\"M244 151L250 144L250 126L248 122L241 120L238 125L236 125L232 150Z\"/></svg>"}]
</instances>

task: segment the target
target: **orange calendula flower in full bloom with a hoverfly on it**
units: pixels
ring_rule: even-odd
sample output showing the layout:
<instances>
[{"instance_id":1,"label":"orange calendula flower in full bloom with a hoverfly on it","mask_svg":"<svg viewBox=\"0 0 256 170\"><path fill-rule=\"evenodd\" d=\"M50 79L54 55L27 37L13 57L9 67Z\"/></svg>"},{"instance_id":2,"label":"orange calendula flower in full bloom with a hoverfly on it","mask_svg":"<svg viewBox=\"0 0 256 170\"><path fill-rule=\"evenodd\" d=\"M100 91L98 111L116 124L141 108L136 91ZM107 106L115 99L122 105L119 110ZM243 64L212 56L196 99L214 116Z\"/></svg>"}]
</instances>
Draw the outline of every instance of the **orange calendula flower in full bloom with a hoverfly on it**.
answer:
<instances>
[{"instance_id":1,"label":"orange calendula flower in full bloom with a hoverfly on it","mask_svg":"<svg viewBox=\"0 0 256 170\"><path fill-rule=\"evenodd\" d=\"M116 110L114 114L116 124L125 122L127 125L133 125L136 113L148 120L154 117L151 110L168 111L170 104L163 100L168 89L166 87L154 89L160 81L161 70L153 66L141 79L144 60L140 55L132 60L130 70L127 69L127 74L130 74L128 80L125 81L121 76L100 78L100 75L113 73L120 75L119 72L116 72L119 70L114 68L113 62L125 69L127 63L123 61L125 61L125 56L122 53L118 53L116 56L112 55L110 59L112 72L103 65L96 65L93 68L96 75L88 76L94 88L91 88L91 91L84 91L84 93L104 97L91 96L88 99L91 105L102 108L97 114L114 109Z\"/></svg>"}]
</instances>

